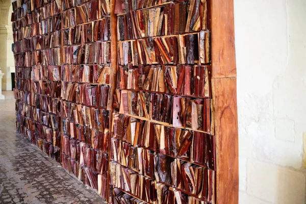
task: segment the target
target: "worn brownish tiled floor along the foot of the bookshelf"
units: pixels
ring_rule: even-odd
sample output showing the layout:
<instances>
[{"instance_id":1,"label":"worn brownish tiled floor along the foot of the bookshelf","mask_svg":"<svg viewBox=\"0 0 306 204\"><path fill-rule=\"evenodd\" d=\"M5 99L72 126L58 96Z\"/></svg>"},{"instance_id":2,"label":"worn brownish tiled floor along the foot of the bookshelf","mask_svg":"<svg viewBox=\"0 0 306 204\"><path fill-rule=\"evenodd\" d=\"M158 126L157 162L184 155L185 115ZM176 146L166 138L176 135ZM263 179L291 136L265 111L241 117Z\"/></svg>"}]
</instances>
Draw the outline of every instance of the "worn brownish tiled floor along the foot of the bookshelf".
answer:
<instances>
[{"instance_id":1,"label":"worn brownish tiled floor along the foot of the bookshelf","mask_svg":"<svg viewBox=\"0 0 306 204\"><path fill-rule=\"evenodd\" d=\"M35 145L15 133L15 100L0 100L0 203L103 203Z\"/></svg>"}]
</instances>

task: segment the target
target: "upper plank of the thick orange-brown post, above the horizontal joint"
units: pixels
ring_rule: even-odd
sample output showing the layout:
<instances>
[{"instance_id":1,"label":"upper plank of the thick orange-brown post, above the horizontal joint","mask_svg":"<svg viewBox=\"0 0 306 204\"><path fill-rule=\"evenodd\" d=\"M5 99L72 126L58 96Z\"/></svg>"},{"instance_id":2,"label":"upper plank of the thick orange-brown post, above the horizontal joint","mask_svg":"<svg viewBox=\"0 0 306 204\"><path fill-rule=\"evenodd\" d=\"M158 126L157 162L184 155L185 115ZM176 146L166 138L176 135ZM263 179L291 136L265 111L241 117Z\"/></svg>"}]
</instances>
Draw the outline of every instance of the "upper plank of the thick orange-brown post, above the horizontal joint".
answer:
<instances>
[{"instance_id":1,"label":"upper plank of the thick orange-brown post, above the horizontal joint","mask_svg":"<svg viewBox=\"0 0 306 204\"><path fill-rule=\"evenodd\" d=\"M233 0L211 1L212 78L236 77Z\"/></svg>"}]
</instances>

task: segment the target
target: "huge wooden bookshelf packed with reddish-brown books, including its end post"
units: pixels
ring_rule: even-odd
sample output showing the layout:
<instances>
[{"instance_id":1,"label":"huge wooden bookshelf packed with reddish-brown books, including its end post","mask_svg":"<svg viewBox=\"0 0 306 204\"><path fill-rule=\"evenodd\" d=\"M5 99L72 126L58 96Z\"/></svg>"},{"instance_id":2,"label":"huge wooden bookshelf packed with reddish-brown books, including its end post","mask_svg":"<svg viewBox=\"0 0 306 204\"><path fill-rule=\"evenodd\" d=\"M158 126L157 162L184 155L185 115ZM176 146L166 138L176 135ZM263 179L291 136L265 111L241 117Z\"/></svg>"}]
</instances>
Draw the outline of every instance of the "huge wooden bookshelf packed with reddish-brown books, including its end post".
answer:
<instances>
[{"instance_id":1,"label":"huge wooden bookshelf packed with reddish-brown books, including its end post","mask_svg":"<svg viewBox=\"0 0 306 204\"><path fill-rule=\"evenodd\" d=\"M85 185L99 188L100 196L109 203L114 203L117 198L132 199L135 203L164 204L169 203L169 199L176 199L177 202L186 199L192 203L201 201L205 204L238 203L233 0L62 0L59 10L58 2L54 0L33 0L31 3L21 0L13 3L14 57L18 70L14 94L19 132L60 162L67 172L82 179ZM37 8L31 8L31 5ZM92 10L93 7L97 9ZM46 12L50 8L53 14ZM31 17L35 9L41 10L37 19ZM25 17L28 14L30 18ZM64 19L64 16L68 17ZM59 22L60 27L56 25ZM94 28L100 30L96 32ZM79 32L78 35L76 32ZM52 38L57 33L60 33L60 43L59 37L56 40ZM75 39L77 36L78 39ZM186 67L188 71L185 72ZM146 86L142 87L145 83ZM106 89L102 90L100 86L106 86L103 87ZM137 96L133 95L132 98L131 92L137 93ZM129 94L131 98L127 97ZM124 107L126 105L130 107ZM138 115L138 112L141 114ZM165 118L162 113L166 115ZM201 153L202 149L207 149L203 147L194 151L210 161L210 165L194 162L190 156L194 154L191 153L194 150L192 145L187 146L188 154L185 152L183 157L177 156L176 152L174 155L165 154L160 148L152 146L131 145L121 137L115 137L115 131L123 135L132 131L128 126L130 123L123 125L122 130L114 128L119 114L145 124L154 123L162 125L162 128L212 136L215 149ZM161 117L157 117L157 114ZM147 127L143 128L142 131ZM160 139L158 130L149 131L152 132L149 135L154 135L150 142ZM143 131L137 134L148 133ZM180 134L175 136L178 139L175 139L173 146L185 142L180 141ZM99 146L101 140L103 147ZM152 168L153 172L147 176L146 173L129 169L129 165L120 164L120 173L115 169L114 174L111 168L111 163L116 162L112 156L114 140L126 145L125 149L120 146L124 151L132 146L149 152L150 165L157 168ZM193 139L190 144L192 142ZM75 156L76 145L81 146L79 153L83 156L80 158ZM123 150L120 154L123 154ZM91 153L84 156L83 151ZM94 157L98 157L100 162L108 161L100 164L92 159ZM171 161L179 161L180 165L188 164L190 167L177 173L179 170L173 162L164 167L158 166L160 157L169 157ZM148 166L146 162L149 159L142 159L143 166ZM108 168L102 172L98 169L105 166L101 165ZM163 168L168 169L163 171ZM175 177L175 185L172 185L172 176L171 183L162 182L158 177L157 172L169 170L176 172L173 175L179 175L179 186L175 186ZM201 170L208 173L204 175ZM125 183L131 183L129 179L132 174L143 178L146 183L142 184L141 193L145 196L140 198L140 192L136 195L125 190L124 186L116 187L112 179L119 174L122 175L119 179ZM137 177L135 175L134 178ZM188 180L188 176L191 179ZM202 186L197 189L200 193L191 193L188 188L196 186L197 178L202 179ZM192 179L194 182L191 182ZM117 189L116 192L113 189ZM123 196L125 194L126 197Z\"/></svg>"}]
</instances>

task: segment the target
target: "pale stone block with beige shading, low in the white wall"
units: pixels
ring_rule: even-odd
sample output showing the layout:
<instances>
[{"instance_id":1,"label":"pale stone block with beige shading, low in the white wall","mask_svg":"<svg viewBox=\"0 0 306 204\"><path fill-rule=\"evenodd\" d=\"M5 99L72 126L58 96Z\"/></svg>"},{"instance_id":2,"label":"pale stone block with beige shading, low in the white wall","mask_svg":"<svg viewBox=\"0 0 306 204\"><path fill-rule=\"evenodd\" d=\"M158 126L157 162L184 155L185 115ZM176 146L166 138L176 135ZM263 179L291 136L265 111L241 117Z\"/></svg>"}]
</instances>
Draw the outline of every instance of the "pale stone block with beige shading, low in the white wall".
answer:
<instances>
[{"instance_id":1,"label":"pale stone block with beige shading, low in the white wall","mask_svg":"<svg viewBox=\"0 0 306 204\"><path fill-rule=\"evenodd\" d=\"M305 175L276 165L248 160L247 193L277 204L303 204Z\"/></svg>"}]
</instances>

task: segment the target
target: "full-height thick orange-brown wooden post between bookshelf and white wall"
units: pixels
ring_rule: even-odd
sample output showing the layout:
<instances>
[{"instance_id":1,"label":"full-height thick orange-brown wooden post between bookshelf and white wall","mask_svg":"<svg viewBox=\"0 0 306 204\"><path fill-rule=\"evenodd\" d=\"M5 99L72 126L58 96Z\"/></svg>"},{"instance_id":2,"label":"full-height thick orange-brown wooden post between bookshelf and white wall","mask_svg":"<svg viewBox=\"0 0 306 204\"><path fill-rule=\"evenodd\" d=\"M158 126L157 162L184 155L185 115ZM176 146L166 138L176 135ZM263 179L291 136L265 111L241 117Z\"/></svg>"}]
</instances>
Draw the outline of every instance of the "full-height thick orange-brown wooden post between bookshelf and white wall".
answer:
<instances>
[{"instance_id":1,"label":"full-height thick orange-brown wooden post between bookshelf and white wall","mask_svg":"<svg viewBox=\"0 0 306 204\"><path fill-rule=\"evenodd\" d=\"M238 204L238 117L233 0L211 0L216 203Z\"/></svg>"}]
</instances>

